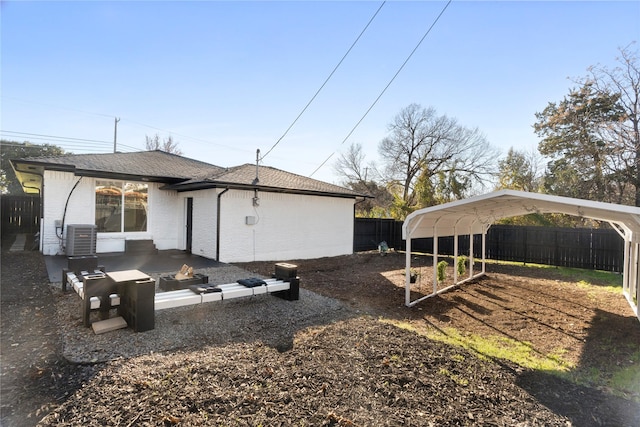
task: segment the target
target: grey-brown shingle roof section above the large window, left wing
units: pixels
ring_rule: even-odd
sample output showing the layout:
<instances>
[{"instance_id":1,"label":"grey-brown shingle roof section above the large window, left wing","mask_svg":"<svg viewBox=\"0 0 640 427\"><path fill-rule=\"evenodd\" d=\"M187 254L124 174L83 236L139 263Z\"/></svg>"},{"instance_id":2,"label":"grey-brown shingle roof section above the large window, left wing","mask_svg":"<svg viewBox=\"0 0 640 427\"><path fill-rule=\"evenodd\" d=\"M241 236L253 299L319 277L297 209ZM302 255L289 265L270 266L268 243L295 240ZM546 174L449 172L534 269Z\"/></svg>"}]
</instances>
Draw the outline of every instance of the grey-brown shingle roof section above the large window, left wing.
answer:
<instances>
[{"instance_id":1,"label":"grey-brown shingle roof section above the large window, left wing","mask_svg":"<svg viewBox=\"0 0 640 427\"><path fill-rule=\"evenodd\" d=\"M135 153L72 154L54 157L30 157L21 162L42 165L46 169L73 170L78 174L131 175L148 178L185 180L194 176L224 170L198 160L164 151Z\"/></svg>"}]
</instances>

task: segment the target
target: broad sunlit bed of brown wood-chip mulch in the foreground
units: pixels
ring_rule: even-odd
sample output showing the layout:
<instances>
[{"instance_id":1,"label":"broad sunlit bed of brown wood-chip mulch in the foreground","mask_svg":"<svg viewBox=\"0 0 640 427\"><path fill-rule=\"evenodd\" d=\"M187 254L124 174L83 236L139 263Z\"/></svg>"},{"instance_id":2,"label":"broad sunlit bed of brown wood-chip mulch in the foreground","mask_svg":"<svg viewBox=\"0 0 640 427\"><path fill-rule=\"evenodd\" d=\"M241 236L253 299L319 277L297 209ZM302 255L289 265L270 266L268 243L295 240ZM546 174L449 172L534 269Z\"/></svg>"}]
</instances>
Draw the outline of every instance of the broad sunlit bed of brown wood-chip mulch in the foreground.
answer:
<instances>
[{"instance_id":1,"label":"broad sunlit bed of brown wood-chip mulch in the foreground","mask_svg":"<svg viewBox=\"0 0 640 427\"><path fill-rule=\"evenodd\" d=\"M43 424L566 425L516 379L361 317L309 330L286 353L235 344L113 363Z\"/></svg>"}]
</instances>

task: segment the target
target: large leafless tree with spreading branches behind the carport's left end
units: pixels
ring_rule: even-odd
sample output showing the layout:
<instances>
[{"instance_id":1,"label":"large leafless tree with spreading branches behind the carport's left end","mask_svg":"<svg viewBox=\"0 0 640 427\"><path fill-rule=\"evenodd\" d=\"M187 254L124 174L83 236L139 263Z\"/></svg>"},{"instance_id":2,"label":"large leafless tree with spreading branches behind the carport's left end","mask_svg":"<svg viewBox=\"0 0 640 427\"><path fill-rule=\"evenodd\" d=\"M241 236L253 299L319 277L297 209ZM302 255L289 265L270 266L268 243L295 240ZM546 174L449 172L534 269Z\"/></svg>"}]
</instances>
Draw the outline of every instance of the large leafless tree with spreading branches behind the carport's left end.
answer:
<instances>
[{"instance_id":1,"label":"large leafless tree with spreading branches behind the carport's left end","mask_svg":"<svg viewBox=\"0 0 640 427\"><path fill-rule=\"evenodd\" d=\"M404 213L418 204L462 197L486 185L493 174L497 153L479 129L439 116L434 108L405 107L389 125L389 132L378 151L386 180L399 189ZM425 197L437 188L447 194Z\"/></svg>"}]
</instances>

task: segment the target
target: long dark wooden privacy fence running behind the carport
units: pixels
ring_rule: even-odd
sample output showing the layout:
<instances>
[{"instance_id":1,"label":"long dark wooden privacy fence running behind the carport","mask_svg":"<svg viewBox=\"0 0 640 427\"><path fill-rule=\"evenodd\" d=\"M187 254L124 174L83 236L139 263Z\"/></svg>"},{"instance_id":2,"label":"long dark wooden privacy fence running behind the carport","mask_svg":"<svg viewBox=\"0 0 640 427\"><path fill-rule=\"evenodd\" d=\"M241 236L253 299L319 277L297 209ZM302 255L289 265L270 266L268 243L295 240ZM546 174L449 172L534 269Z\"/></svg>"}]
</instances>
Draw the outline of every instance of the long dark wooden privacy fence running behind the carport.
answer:
<instances>
[{"instance_id":1,"label":"long dark wooden privacy fence running behind the carport","mask_svg":"<svg viewBox=\"0 0 640 427\"><path fill-rule=\"evenodd\" d=\"M382 241L404 250L402 222L356 218L354 251L375 250ZM438 253L453 255L453 237L438 238ZM433 252L433 238L414 239L414 252ZM487 232L487 259L622 272L624 243L612 229L492 225ZM474 236L474 257L482 257L482 237ZM469 236L458 236L458 253L469 254Z\"/></svg>"}]
</instances>

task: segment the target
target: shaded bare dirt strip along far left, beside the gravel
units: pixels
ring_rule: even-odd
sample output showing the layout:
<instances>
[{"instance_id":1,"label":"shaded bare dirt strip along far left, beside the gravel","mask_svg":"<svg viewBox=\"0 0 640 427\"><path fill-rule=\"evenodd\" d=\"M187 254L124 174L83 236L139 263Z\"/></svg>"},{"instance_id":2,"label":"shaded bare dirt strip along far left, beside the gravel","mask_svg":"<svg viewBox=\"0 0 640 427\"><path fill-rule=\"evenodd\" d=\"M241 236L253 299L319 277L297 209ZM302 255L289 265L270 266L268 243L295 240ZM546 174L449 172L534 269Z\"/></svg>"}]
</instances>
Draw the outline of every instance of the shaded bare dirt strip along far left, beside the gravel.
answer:
<instances>
[{"instance_id":1,"label":"shaded bare dirt strip along far left, beside the gravel","mask_svg":"<svg viewBox=\"0 0 640 427\"><path fill-rule=\"evenodd\" d=\"M0 425L32 426L97 372L62 357L44 259L2 251Z\"/></svg>"}]
</instances>

